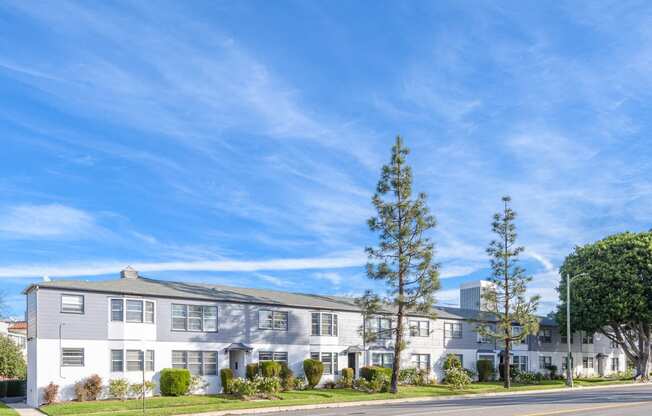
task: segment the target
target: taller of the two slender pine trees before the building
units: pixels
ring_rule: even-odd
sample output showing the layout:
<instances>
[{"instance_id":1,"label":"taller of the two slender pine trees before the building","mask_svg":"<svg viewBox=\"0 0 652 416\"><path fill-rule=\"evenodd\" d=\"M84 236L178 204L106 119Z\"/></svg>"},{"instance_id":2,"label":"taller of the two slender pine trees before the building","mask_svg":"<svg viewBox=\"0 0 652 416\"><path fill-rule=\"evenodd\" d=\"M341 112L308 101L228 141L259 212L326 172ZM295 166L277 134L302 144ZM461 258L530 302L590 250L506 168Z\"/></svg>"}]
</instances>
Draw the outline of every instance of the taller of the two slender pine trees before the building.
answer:
<instances>
[{"instance_id":1,"label":"taller of the two slender pine trees before the building","mask_svg":"<svg viewBox=\"0 0 652 416\"><path fill-rule=\"evenodd\" d=\"M391 161L383 166L372 199L377 214L368 221L380 241L377 248L367 247L367 276L385 282L396 312L392 393L398 392L401 351L405 348L405 314L408 310L432 313L434 294L439 289L434 245L425 236L436 221L426 205L426 195L420 193L413 198L412 169L406 163L408 153L401 137L396 137Z\"/></svg>"}]
</instances>

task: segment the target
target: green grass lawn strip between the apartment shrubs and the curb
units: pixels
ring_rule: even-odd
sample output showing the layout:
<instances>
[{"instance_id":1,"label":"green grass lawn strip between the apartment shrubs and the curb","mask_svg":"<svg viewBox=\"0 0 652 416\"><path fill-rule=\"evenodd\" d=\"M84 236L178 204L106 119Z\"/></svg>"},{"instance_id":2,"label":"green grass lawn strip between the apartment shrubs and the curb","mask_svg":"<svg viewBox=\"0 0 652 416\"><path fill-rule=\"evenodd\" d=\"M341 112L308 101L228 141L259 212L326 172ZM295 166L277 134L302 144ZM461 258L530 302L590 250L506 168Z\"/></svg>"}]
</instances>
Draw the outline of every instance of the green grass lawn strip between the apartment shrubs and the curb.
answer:
<instances>
[{"instance_id":1,"label":"green grass lawn strip between the apartment shrubs and the curb","mask_svg":"<svg viewBox=\"0 0 652 416\"><path fill-rule=\"evenodd\" d=\"M626 383L622 380L578 380L577 385L599 385L610 383ZM537 385L514 385L513 391L540 390L563 388L563 381L544 381ZM186 396L186 397L154 397L147 399L147 414L152 416L179 415L201 413L219 410L244 408L259 408L273 406L293 406L302 404L350 402L362 400L382 400L408 397L436 397L468 393L490 393L504 391L498 382L474 383L462 391L451 391L446 386L401 387L396 395L389 393L367 394L351 389L317 389L307 391L292 391L281 393L279 400L240 401L223 395ZM125 402L104 400L97 402L68 402L41 407L41 411L51 416L87 415L94 416L135 416L142 414L142 402L128 400ZM2 415L4 416L4 415Z\"/></svg>"}]
</instances>

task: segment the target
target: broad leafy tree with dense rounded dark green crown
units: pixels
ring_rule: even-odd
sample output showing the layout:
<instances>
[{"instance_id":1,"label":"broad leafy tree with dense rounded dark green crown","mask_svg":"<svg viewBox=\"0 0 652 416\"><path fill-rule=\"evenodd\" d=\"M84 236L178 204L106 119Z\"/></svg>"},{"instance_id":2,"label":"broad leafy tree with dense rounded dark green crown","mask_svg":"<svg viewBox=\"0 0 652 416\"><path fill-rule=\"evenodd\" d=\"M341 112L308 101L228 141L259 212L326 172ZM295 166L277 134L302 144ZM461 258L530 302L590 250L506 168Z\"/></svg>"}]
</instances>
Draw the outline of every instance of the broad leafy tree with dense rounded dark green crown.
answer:
<instances>
[{"instance_id":1,"label":"broad leafy tree with dense rounded dark green crown","mask_svg":"<svg viewBox=\"0 0 652 416\"><path fill-rule=\"evenodd\" d=\"M557 321L566 328L566 288L571 280L571 325L602 333L647 381L652 343L652 232L625 232L575 247L560 268Z\"/></svg>"}]
</instances>

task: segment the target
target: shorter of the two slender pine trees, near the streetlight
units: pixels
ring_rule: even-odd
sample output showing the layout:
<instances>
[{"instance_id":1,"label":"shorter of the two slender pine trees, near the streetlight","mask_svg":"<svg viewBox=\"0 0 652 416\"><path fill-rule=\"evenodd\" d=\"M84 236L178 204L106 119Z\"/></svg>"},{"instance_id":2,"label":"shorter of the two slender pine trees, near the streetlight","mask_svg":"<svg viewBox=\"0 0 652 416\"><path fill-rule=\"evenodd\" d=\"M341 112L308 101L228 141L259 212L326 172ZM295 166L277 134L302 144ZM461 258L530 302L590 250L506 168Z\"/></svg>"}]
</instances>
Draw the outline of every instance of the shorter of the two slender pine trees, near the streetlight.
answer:
<instances>
[{"instance_id":1,"label":"shorter of the two slender pine trees, near the streetlight","mask_svg":"<svg viewBox=\"0 0 652 416\"><path fill-rule=\"evenodd\" d=\"M491 286L484 288L482 298L488 312L496 316L496 328L486 323L480 324L481 335L499 340L503 345L504 387L511 387L509 374L510 351L512 343L521 342L529 334L539 330L539 320L535 313L539 305L539 296L526 297L527 284L532 280L519 265L519 255L525 250L516 244L516 212L509 206L511 198L502 198L503 212L494 214L491 224L496 239L491 241L487 254L491 260L489 279ZM514 331L514 327L520 331Z\"/></svg>"}]
</instances>

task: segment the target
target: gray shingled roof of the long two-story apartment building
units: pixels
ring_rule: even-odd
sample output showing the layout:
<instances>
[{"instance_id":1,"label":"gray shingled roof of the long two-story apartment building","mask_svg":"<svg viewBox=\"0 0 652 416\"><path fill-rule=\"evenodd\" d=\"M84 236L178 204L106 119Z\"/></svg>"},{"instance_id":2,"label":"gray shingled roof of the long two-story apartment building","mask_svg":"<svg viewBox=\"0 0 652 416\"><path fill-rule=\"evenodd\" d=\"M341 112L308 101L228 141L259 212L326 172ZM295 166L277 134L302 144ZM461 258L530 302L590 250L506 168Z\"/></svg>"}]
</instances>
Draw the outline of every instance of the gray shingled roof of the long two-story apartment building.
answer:
<instances>
[{"instance_id":1,"label":"gray shingled roof of the long two-story apartment building","mask_svg":"<svg viewBox=\"0 0 652 416\"><path fill-rule=\"evenodd\" d=\"M282 292L269 289L251 289L226 285L212 285L207 283L174 282L150 279L142 276L134 279L113 279L102 281L55 280L50 282L39 282L30 285L25 289L24 293L28 293L34 288L136 296L157 296L217 302L293 306L299 308L351 312L358 312L360 310L355 304L354 299L351 297ZM390 312L390 309L387 309L386 312ZM433 308L433 312L438 318L443 319L495 321L492 314L472 309L435 307ZM415 316L423 314L411 313L410 315ZM548 318L542 318L541 323L543 325L556 325L554 321L552 321L552 323L544 323L546 320L550 321Z\"/></svg>"}]
</instances>

